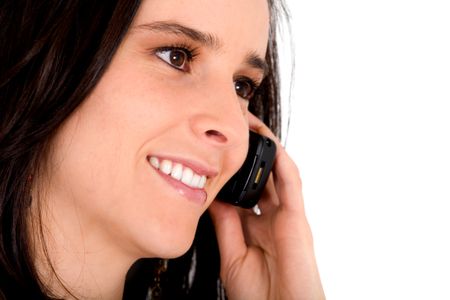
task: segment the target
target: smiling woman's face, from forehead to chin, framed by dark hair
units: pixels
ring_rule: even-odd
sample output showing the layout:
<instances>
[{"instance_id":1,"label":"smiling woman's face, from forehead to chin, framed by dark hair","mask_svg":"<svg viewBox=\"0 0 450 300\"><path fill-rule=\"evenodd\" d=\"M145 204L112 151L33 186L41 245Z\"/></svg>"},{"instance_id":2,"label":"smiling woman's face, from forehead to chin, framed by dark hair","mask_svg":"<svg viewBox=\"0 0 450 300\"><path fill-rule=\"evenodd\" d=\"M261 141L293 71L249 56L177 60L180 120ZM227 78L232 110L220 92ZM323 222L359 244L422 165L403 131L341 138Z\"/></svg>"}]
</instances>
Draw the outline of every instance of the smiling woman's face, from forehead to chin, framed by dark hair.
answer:
<instances>
[{"instance_id":1,"label":"smiling woman's face, from forehead to chin, framed by dark hair","mask_svg":"<svg viewBox=\"0 0 450 300\"><path fill-rule=\"evenodd\" d=\"M58 226L76 226L86 248L184 253L245 158L268 27L267 0L144 1L55 137L46 199Z\"/></svg>"}]
</instances>

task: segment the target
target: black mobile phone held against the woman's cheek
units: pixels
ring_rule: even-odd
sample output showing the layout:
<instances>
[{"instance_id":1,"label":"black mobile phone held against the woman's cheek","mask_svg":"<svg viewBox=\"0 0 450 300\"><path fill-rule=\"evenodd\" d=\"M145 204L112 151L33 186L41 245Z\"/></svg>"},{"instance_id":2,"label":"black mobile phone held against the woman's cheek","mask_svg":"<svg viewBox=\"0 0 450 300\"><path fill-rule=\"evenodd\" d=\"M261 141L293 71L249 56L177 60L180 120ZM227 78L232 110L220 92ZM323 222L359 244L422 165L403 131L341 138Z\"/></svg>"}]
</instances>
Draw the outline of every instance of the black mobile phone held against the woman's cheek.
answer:
<instances>
[{"instance_id":1,"label":"black mobile phone held against the woman's cheek","mask_svg":"<svg viewBox=\"0 0 450 300\"><path fill-rule=\"evenodd\" d=\"M274 141L250 131L244 164L220 190L217 198L244 208L255 206L269 178L275 153Z\"/></svg>"}]
</instances>

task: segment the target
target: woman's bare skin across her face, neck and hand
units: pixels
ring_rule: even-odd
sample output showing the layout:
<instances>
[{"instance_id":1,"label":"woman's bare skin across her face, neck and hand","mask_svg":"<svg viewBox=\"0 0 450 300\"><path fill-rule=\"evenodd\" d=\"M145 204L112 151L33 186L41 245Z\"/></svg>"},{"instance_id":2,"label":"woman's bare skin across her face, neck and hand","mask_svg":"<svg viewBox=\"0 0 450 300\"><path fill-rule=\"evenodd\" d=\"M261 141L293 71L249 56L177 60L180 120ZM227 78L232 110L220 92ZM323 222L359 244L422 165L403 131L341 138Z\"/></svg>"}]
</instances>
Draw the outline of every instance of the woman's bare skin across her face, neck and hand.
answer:
<instances>
[{"instance_id":1,"label":"woman's bare skin across her face, neck and hand","mask_svg":"<svg viewBox=\"0 0 450 300\"><path fill-rule=\"evenodd\" d=\"M207 32L216 42L155 30L149 26L155 22ZM107 72L55 136L34 189L41 201L32 213L43 212L45 239L37 244L47 245L72 294L121 299L130 265L140 257L183 254L210 207L230 299L323 297L300 177L280 145L262 216L214 201L245 158L249 127L273 137L235 89L243 77L262 80L263 70L248 57L264 58L268 24L266 0L143 2ZM161 47L173 45L196 49L188 69L165 60ZM210 169L206 201L180 194L149 165L148 155ZM43 248L36 249L43 281L71 298L45 263Z\"/></svg>"}]
</instances>

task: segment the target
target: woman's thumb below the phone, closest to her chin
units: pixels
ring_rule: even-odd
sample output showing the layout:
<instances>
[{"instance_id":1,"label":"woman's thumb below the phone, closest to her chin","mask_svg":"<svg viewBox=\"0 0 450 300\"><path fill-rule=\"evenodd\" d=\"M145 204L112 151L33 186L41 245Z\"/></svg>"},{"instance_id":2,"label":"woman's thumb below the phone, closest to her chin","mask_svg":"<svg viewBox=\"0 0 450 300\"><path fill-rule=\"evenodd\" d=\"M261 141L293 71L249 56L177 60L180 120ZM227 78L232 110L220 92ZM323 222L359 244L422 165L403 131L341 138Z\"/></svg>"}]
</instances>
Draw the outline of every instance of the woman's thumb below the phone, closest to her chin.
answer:
<instances>
[{"instance_id":1,"label":"woman's thumb below the phone, closest to her chin","mask_svg":"<svg viewBox=\"0 0 450 300\"><path fill-rule=\"evenodd\" d=\"M216 230L222 270L229 270L247 251L239 214L233 206L220 201L213 201L209 212Z\"/></svg>"}]
</instances>

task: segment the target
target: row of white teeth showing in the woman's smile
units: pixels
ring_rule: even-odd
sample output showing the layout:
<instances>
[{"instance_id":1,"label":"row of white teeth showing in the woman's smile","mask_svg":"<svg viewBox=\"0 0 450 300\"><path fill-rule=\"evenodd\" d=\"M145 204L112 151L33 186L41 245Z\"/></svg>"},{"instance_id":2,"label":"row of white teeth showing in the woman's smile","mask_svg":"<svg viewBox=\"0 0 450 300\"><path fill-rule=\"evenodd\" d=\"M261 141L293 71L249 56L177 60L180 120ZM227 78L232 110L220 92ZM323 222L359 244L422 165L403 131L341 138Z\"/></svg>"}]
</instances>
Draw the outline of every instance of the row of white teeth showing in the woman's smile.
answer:
<instances>
[{"instance_id":1,"label":"row of white teeth showing in the woman's smile","mask_svg":"<svg viewBox=\"0 0 450 300\"><path fill-rule=\"evenodd\" d=\"M163 159L161 162L157 157L151 156L150 164L159 169L166 175L170 175L173 179L180 180L185 185L193 188L204 188L206 184L206 176L195 173L191 168L184 167L179 163L172 163L172 161Z\"/></svg>"}]
</instances>

